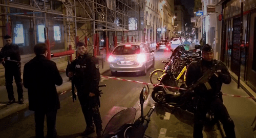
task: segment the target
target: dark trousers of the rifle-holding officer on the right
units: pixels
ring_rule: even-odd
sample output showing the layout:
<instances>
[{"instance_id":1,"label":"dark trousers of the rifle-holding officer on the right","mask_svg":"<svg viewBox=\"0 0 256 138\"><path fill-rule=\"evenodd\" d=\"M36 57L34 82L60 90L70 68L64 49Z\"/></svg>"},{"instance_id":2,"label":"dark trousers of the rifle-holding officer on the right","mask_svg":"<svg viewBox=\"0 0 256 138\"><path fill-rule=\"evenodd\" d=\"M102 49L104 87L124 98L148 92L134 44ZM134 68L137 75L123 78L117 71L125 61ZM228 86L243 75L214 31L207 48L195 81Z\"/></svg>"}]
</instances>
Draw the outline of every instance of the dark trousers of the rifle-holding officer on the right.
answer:
<instances>
[{"instance_id":1,"label":"dark trousers of the rifle-holding officer on the right","mask_svg":"<svg viewBox=\"0 0 256 138\"><path fill-rule=\"evenodd\" d=\"M210 102L209 102L210 101ZM208 110L214 113L215 118L221 121L227 138L236 137L234 133L234 123L229 117L227 108L222 103L220 98L214 98L212 100L203 101L200 99L197 104L196 111L194 113L194 138L203 137L203 125Z\"/></svg>"}]
</instances>

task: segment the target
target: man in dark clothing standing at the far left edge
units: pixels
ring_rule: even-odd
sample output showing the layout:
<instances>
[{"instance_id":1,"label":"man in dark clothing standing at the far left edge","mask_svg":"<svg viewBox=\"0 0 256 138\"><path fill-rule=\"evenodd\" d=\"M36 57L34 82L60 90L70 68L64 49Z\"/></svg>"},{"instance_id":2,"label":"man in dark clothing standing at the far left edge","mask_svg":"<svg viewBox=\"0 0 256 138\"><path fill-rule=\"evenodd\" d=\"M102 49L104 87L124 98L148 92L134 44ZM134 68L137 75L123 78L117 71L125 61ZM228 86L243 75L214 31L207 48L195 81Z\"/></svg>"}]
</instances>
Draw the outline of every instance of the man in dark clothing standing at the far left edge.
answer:
<instances>
[{"instance_id":1,"label":"man in dark clothing standing at the far left edge","mask_svg":"<svg viewBox=\"0 0 256 138\"><path fill-rule=\"evenodd\" d=\"M10 105L15 102L12 81L13 77L17 86L18 102L23 104L23 85L22 85L22 73L20 72L20 54L17 44L12 43L12 38L9 35L4 36L6 45L0 51L0 60L5 66L5 86L8 93ZM10 61L14 60L14 61Z\"/></svg>"}]
</instances>

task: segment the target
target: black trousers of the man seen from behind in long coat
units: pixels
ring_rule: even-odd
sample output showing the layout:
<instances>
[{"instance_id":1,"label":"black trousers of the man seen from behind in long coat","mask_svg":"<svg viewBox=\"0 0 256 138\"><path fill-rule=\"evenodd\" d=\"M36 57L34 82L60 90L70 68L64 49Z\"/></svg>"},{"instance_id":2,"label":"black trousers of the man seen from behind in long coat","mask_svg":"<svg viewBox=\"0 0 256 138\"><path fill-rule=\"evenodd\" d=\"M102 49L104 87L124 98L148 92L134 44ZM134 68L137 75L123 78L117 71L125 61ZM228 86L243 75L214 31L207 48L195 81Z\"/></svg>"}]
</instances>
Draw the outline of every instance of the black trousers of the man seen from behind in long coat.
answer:
<instances>
[{"instance_id":1,"label":"black trousers of the man seen from behind in long coat","mask_svg":"<svg viewBox=\"0 0 256 138\"><path fill-rule=\"evenodd\" d=\"M55 129L57 110L35 111L35 137L44 138L45 115L47 121L47 138L54 138L57 135Z\"/></svg>"}]
</instances>

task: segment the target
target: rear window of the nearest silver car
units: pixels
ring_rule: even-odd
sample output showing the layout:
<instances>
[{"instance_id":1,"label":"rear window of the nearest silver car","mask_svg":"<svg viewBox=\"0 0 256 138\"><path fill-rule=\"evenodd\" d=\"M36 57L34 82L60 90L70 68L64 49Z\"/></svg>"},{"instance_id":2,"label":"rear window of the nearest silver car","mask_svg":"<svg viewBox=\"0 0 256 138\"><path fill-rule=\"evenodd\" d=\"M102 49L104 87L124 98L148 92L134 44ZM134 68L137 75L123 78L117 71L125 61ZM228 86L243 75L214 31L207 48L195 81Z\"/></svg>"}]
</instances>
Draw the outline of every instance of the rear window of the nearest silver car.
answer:
<instances>
[{"instance_id":1,"label":"rear window of the nearest silver car","mask_svg":"<svg viewBox=\"0 0 256 138\"><path fill-rule=\"evenodd\" d=\"M114 51L113 55L133 55L139 54L140 47L139 45L120 45Z\"/></svg>"}]
</instances>

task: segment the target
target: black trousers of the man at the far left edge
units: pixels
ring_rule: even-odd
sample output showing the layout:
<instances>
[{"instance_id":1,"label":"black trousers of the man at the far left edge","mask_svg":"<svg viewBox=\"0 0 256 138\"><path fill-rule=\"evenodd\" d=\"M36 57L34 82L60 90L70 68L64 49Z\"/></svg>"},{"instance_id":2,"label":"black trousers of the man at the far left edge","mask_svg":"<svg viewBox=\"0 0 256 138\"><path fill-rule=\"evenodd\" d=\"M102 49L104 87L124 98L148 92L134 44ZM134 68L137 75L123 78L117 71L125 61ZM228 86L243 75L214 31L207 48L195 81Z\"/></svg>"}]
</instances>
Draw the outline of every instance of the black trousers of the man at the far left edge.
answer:
<instances>
[{"instance_id":1,"label":"black trousers of the man at the far left edge","mask_svg":"<svg viewBox=\"0 0 256 138\"><path fill-rule=\"evenodd\" d=\"M20 66L6 66L5 67L5 86L8 93L8 99L14 99L12 81L13 77L17 86L18 99L23 98L23 84L22 73L20 72Z\"/></svg>"}]
</instances>

